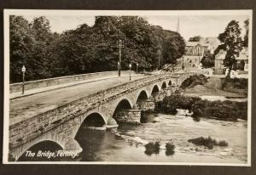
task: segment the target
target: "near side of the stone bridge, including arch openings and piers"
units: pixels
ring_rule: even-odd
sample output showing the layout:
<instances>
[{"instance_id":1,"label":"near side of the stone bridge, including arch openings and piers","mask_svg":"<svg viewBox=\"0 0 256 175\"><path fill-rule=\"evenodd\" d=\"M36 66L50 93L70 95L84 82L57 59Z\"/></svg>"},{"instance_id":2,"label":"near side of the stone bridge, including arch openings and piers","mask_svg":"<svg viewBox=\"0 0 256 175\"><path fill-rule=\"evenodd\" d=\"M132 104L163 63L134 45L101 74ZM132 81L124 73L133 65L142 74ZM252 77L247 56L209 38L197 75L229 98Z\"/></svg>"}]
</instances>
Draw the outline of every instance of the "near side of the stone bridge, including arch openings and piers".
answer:
<instances>
[{"instance_id":1,"label":"near side of the stone bridge, including arch openings and piers","mask_svg":"<svg viewBox=\"0 0 256 175\"><path fill-rule=\"evenodd\" d=\"M116 126L116 121L140 122L142 110L154 110L155 101L173 93L191 74L143 77L15 123L9 126L9 160L17 161L26 150L43 141L81 152L74 138L84 121L91 124L95 120L107 128Z\"/></svg>"}]
</instances>

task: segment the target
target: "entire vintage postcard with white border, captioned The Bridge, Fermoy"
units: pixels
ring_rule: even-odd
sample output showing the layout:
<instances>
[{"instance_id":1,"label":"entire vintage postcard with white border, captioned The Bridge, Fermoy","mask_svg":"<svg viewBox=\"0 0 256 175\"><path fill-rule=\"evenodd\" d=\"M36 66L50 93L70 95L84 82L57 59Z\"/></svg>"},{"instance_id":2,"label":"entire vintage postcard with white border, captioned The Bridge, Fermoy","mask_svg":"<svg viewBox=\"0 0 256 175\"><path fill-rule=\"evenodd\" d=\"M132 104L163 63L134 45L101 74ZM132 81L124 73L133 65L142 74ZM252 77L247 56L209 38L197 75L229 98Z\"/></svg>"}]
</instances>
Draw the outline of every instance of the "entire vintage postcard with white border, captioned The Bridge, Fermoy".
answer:
<instances>
[{"instance_id":1,"label":"entire vintage postcard with white border, captioned The Bridge, Fermoy","mask_svg":"<svg viewBox=\"0 0 256 175\"><path fill-rule=\"evenodd\" d=\"M3 163L251 166L253 10L3 14Z\"/></svg>"}]
</instances>

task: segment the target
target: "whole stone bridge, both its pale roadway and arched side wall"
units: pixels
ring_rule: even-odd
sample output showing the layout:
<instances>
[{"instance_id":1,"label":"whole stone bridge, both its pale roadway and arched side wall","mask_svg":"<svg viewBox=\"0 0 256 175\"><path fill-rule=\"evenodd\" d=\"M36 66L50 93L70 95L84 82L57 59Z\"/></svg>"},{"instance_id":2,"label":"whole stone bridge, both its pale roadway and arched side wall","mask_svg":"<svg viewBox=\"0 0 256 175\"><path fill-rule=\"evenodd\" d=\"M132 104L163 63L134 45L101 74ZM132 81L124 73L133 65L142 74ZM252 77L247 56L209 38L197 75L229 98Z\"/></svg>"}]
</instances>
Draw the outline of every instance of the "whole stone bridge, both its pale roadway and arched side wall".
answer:
<instances>
[{"instance_id":1,"label":"whole stone bridge, both its pale roadway and arched side wall","mask_svg":"<svg viewBox=\"0 0 256 175\"><path fill-rule=\"evenodd\" d=\"M115 77L10 99L9 153L5 152L4 157L17 161L32 145L46 140L59 144L63 150L80 153L82 149L75 136L85 118L100 116L108 127L116 126L113 122L115 116L117 120L125 117L129 122L137 122L141 109L133 107L138 100L149 99L151 105L151 102L169 94L170 90L175 90L190 75L132 76L130 83L129 76ZM155 94L154 98L150 99L152 94ZM126 113L122 115L124 110L120 110L124 106L127 107L128 119ZM143 106L143 109L147 108Z\"/></svg>"}]
</instances>

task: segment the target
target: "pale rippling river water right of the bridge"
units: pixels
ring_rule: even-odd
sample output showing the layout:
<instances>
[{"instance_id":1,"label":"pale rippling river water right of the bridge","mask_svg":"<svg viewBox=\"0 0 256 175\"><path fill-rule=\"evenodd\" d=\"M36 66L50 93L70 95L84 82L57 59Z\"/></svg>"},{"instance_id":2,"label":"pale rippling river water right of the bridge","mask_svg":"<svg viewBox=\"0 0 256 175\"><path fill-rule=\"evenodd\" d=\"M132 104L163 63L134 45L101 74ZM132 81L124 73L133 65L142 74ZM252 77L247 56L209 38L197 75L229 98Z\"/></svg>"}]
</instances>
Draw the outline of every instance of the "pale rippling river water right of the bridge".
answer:
<instances>
[{"instance_id":1,"label":"pale rippling river water right of the bridge","mask_svg":"<svg viewBox=\"0 0 256 175\"><path fill-rule=\"evenodd\" d=\"M147 114L141 125L121 125L115 131L80 129L76 137L83 152L79 161L110 162L194 162L246 163L247 121L218 121L189 116ZM188 142L189 138L212 137L228 142L212 150ZM144 145L160 140L160 152L146 154ZM166 155L167 142L175 144L173 155Z\"/></svg>"}]
</instances>

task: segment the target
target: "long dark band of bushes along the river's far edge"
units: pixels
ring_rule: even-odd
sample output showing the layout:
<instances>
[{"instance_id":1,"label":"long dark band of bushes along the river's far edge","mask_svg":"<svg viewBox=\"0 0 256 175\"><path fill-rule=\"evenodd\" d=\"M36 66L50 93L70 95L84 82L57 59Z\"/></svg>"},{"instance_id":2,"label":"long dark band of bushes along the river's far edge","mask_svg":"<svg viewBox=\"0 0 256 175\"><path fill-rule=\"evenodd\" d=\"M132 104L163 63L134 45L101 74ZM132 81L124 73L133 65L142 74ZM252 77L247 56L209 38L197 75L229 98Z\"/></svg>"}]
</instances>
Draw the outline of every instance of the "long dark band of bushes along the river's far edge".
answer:
<instances>
[{"instance_id":1,"label":"long dark band of bushes along the river's far edge","mask_svg":"<svg viewBox=\"0 0 256 175\"><path fill-rule=\"evenodd\" d=\"M193 112L192 117L215 118L224 121L247 120L247 102L236 101L209 101L197 97L172 94L159 102L156 110L166 114L175 115L177 109Z\"/></svg>"}]
</instances>

